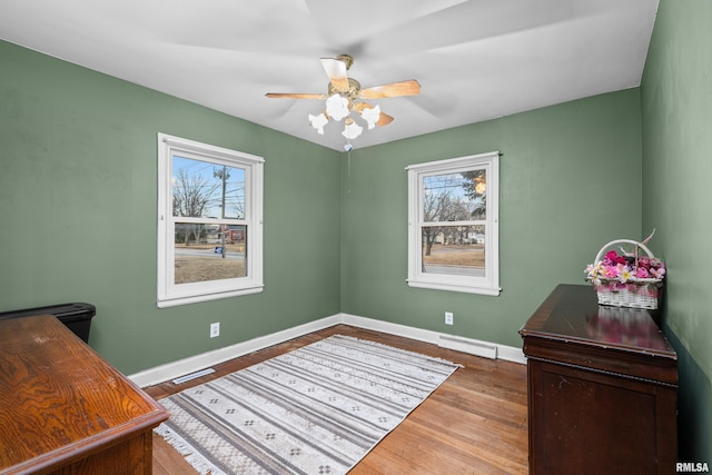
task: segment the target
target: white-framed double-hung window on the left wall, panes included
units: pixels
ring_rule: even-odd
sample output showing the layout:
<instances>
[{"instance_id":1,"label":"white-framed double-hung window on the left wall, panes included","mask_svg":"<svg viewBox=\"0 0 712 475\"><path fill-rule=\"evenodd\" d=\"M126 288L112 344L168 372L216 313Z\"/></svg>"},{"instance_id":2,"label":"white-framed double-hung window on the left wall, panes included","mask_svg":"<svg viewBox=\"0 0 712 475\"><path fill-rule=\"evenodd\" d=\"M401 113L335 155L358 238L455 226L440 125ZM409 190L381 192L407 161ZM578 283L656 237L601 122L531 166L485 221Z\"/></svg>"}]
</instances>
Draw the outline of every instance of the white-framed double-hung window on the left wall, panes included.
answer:
<instances>
[{"instance_id":1,"label":"white-framed double-hung window on the left wall, panes included","mask_svg":"<svg viewBox=\"0 0 712 475\"><path fill-rule=\"evenodd\" d=\"M158 306L263 290L261 157L158 135Z\"/></svg>"}]
</instances>

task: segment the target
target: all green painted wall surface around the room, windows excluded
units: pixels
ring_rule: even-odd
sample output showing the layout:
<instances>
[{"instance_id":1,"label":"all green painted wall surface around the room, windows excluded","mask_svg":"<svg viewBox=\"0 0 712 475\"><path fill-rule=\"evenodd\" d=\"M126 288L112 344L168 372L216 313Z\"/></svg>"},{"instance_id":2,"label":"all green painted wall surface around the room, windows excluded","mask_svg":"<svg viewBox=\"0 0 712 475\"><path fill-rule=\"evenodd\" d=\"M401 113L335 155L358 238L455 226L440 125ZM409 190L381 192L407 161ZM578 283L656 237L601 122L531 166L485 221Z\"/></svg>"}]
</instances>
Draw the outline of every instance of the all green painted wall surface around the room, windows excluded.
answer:
<instances>
[{"instance_id":1,"label":"all green painted wall surface around the room, windows excluded","mask_svg":"<svg viewBox=\"0 0 712 475\"><path fill-rule=\"evenodd\" d=\"M521 325L556 284L583 283L600 246L656 227L680 455L710 462L709 24L709 0L662 0L642 88L350 158L0 41L0 311L95 304L90 344L127 374L339 311L518 347ZM263 294L156 307L158 131L265 158ZM492 150L502 295L408 288L405 167Z\"/></svg>"}]
</instances>

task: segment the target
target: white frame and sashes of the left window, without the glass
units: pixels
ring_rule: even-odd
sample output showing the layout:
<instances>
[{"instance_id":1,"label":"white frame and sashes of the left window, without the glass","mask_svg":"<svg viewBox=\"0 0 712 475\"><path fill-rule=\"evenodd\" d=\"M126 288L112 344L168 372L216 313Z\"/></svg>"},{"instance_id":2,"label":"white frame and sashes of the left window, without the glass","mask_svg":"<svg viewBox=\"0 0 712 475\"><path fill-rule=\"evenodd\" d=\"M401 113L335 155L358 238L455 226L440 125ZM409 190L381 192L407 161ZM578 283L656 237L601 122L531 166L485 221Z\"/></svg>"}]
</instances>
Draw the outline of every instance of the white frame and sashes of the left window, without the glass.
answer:
<instances>
[{"instance_id":1,"label":"white frame and sashes of the left window, without the glass","mask_svg":"<svg viewBox=\"0 0 712 475\"><path fill-rule=\"evenodd\" d=\"M245 169L246 277L175 284L175 224L191 218L172 216L172 157ZM263 180L264 159L255 155L158 133L158 297L160 308L263 291ZM216 224L235 220L217 219Z\"/></svg>"}]
</instances>

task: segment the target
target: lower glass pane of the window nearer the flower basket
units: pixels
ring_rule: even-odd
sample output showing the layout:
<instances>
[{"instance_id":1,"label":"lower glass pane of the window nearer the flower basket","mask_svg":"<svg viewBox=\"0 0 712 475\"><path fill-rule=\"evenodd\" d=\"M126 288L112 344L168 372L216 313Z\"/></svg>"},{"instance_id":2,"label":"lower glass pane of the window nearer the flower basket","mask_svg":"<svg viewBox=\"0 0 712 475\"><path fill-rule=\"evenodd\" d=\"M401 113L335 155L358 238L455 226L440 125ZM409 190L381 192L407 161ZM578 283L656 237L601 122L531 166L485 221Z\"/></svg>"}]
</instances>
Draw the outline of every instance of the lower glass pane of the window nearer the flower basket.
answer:
<instances>
[{"instance_id":1,"label":"lower glass pane of the window nearer the flower basket","mask_svg":"<svg viewBox=\"0 0 712 475\"><path fill-rule=\"evenodd\" d=\"M423 273L484 276L484 225L424 226L422 243Z\"/></svg>"}]
</instances>

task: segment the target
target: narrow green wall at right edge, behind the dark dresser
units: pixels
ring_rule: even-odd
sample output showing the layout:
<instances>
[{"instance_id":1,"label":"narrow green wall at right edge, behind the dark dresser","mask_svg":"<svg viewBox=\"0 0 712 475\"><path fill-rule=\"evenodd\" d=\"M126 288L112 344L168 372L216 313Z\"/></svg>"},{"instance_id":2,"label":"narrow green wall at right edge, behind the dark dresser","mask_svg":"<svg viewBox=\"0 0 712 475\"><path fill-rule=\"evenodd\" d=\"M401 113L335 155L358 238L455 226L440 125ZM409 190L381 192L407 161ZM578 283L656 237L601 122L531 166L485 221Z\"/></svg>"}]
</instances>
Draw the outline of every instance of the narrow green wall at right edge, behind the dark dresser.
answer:
<instances>
[{"instance_id":1,"label":"narrow green wall at right edge, behind the dark dresser","mask_svg":"<svg viewBox=\"0 0 712 475\"><path fill-rule=\"evenodd\" d=\"M712 463L712 2L663 0L641 87L643 225L669 268L680 458Z\"/></svg>"}]
</instances>

